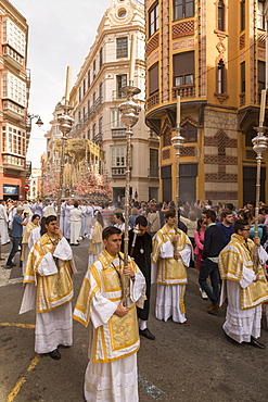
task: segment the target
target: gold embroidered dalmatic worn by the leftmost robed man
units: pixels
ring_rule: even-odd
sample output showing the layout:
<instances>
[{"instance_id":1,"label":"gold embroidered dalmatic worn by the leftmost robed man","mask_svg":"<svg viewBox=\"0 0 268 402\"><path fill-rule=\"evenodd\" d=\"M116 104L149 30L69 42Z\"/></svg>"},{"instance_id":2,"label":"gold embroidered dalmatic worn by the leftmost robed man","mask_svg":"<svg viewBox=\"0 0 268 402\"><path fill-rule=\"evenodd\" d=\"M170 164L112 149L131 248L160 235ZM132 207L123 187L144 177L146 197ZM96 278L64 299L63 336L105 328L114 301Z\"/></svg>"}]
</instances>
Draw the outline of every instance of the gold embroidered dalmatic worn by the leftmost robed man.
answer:
<instances>
[{"instance_id":1,"label":"gold embroidered dalmatic worn by the leftmost robed man","mask_svg":"<svg viewBox=\"0 0 268 402\"><path fill-rule=\"evenodd\" d=\"M46 234L33 246L24 274L24 284L30 282L37 286L38 313L60 307L71 302L74 297L72 275L75 273L75 268L72 261L59 259L56 274L38 275L38 267L44 255L52 250L54 240Z\"/></svg>"}]
</instances>

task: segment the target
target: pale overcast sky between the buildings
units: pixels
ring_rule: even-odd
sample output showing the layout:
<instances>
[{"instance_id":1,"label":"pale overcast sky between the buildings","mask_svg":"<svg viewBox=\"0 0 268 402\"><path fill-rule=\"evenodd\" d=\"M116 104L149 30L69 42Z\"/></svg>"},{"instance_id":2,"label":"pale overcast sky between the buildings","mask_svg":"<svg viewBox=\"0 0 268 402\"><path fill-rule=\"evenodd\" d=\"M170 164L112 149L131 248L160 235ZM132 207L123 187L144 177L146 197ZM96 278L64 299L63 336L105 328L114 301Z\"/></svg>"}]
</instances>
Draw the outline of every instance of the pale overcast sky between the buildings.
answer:
<instances>
[{"instance_id":1,"label":"pale overcast sky between the buildings","mask_svg":"<svg viewBox=\"0 0 268 402\"><path fill-rule=\"evenodd\" d=\"M98 25L112 0L11 0L29 25L27 67L31 72L29 113L39 114L41 128L33 120L27 161L40 167L46 151L43 135L52 112L65 93L67 65L72 86L90 47Z\"/></svg>"}]
</instances>

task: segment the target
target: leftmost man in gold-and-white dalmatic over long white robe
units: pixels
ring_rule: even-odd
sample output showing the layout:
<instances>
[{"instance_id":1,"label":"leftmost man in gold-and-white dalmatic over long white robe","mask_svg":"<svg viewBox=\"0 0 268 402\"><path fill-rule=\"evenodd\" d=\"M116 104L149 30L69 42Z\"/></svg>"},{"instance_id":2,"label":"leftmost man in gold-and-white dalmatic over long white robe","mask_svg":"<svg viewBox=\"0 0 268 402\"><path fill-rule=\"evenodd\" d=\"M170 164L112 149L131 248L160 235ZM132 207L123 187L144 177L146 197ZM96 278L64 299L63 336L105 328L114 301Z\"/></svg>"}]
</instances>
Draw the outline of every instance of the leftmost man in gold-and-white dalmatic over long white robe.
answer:
<instances>
[{"instance_id":1,"label":"leftmost man in gold-and-white dalmatic over long white robe","mask_svg":"<svg viewBox=\"0 0 268 402\"><path fill-rule=\"evenodd\" d=\"M31 248L20 314L36 310L35 352L61 359L59 344L73 344L72 300L76 273L72 249L56 223L46 218L47 234Z\"/></svg>"}]
</instances>

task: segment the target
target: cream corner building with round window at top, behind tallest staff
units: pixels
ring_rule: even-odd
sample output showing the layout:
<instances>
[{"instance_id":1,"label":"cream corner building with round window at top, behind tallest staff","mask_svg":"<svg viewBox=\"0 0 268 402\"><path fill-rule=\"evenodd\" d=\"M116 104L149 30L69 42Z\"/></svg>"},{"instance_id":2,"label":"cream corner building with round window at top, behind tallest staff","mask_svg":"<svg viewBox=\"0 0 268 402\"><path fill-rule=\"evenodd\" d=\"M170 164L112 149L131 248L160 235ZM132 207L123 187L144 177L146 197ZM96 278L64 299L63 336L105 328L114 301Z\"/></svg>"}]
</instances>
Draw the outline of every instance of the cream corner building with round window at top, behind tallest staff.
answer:
<instances>
[{"instance_id":1,"label":"cream corner building with round window at top, behind tallest staff","mask_svg":"<svg viewBox=\"0 0 268 402\"><path fill-rule=\"evenodd\" d=\"M118 106L126 100L122 88L129 80L132 35L137 38L133 84L141 89L135 98L142 110L131 139L130 196L158 198L158 137L144 123L144 4L112 0L71 92L75 118L71 135L88 139L103 151L99 169L112 186L114 201L125 194L126 135Z\"/></svg>"}]
</instances>

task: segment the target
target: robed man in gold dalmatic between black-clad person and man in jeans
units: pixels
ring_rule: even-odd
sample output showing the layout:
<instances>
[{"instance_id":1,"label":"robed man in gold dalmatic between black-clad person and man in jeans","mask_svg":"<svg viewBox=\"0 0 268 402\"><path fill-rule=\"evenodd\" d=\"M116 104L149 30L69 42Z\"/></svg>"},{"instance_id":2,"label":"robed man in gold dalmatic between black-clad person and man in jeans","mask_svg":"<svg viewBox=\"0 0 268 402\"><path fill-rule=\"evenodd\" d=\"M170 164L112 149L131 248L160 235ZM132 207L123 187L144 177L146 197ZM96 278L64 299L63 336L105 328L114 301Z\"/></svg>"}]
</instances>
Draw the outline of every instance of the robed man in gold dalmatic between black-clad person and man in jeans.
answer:
<instances>
[{"instance_id":1,"label":"robed man in gold dalmatic between black-clad person and man in jeans","mask_svg":"<svg viewBox=\"0 0 268 402\"><path fill-rule=\"evenodd\" d=\"M155 316L165 322L188 325L184 307L187 267L192 254L192 244L187 235L176 228L175 210L165 214L166 225L153 237L152 282L157 284Z\"/></svg>"}]
</instances>

